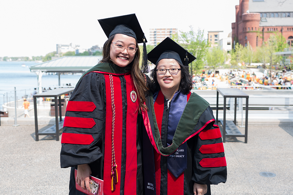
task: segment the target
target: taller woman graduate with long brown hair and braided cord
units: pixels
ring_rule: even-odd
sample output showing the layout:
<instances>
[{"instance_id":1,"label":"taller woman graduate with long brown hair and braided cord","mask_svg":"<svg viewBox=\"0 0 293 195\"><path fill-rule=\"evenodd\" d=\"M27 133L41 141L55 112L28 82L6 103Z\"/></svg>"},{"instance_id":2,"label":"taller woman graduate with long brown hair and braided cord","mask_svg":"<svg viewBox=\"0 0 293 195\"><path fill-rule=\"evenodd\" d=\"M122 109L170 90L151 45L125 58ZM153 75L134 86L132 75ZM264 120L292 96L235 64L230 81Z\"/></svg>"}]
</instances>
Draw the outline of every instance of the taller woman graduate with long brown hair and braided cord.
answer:
<instances>
[{"instance_id":1,"label":"taller woman graduate with long brown hair and braided cord","mask_svg":"<svg viewBox=\"0 0 293 195\"><path fill-rule=\"evenodd\" d=\"M104 195L141 195L141 112L147 89L138 43L144 42L145 50L146 40L135 14L99 23L108 37L103 59L82 75L67 104L61 167L71 167L69 194L84 194L76 183L90 191L92 175L104 180Z\"/></svg>"}]
</instances>

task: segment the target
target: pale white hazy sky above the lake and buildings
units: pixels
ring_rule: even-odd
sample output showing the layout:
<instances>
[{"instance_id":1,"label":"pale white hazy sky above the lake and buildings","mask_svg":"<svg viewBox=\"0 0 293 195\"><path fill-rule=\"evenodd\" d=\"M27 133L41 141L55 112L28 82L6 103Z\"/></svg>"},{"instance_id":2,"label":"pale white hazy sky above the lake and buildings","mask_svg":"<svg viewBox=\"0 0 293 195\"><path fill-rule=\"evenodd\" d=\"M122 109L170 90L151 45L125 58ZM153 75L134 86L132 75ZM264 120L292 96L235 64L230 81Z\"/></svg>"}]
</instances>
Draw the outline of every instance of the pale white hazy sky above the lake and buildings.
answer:
<instances>
[{"instance_id":1,"label":"pale white hazy sky above the lake and buildings","mask_svg":"<svg viewBox=\"0 0 293 195\"><path fill-rule=\"evenodd\" d=\"M150 28L231 32L239 0L3 0L0 56L45 56L56 44L88 49L107 40L98 19L135 13L149 39Z\"/></svg>"}]
</instances>

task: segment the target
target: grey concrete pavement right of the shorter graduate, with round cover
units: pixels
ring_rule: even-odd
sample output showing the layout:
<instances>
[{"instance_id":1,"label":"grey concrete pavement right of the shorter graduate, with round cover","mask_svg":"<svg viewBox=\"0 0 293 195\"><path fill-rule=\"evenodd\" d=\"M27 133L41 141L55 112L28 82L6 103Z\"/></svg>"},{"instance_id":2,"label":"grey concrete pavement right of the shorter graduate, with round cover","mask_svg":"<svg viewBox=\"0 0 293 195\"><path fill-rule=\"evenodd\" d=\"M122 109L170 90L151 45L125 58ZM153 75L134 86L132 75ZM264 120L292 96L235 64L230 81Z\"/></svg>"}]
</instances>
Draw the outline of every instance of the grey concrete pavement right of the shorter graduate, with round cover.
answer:
<instances>
[{"instance_id":1,"label":"grey concrete pavement right of the shorter graduate, with round cover","mask_svg":"<svg viewBox=\"0 0 293 195\"><path fill-rule=\"evenodd\" d=\"M292 143L292 126L248 126L247 144L244 138L226 138L228 178L225 184L212 185L212 194L293 194ZM263 177L261 172L276 176Z\"/></svg>"}]
</instances>

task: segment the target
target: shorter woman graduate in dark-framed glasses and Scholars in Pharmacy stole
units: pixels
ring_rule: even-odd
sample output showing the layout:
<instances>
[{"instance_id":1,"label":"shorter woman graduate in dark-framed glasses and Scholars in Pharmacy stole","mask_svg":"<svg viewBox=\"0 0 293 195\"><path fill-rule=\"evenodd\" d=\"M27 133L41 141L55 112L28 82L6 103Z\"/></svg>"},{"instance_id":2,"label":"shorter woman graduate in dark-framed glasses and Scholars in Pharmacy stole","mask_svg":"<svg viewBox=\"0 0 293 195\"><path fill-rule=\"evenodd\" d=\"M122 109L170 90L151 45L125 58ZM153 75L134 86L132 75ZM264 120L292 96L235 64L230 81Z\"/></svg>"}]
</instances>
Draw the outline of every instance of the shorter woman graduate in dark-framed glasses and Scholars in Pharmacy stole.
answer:
<instances>
[{"instance_id":1,"label":"shorter woman graduate in dark-framed glasses and Scholars in Pharmacy stole","mask_svg":"<svg viewBox=\"0 0 293 195\"><path fill-rule=\"evenodd\" d=\"M167 37L148 59L156 67L144 115L146 194L210 194L210 184L226 182L226 159L209 103L190 92L196 58Z\"/></svg>"}]
</instances>

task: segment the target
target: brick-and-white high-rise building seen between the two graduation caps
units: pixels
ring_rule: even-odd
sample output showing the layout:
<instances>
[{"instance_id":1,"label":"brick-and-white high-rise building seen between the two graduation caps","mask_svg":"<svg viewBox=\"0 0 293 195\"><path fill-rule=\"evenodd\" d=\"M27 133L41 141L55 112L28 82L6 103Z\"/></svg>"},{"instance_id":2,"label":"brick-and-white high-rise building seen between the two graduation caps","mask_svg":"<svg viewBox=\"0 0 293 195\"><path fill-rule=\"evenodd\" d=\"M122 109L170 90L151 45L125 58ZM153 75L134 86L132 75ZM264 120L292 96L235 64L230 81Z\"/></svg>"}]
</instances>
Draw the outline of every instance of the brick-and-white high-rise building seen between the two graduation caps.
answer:
<instances>
[{"instance_id":1,"label":"brick-and-white high-rise building seen between the two graduation caps","mask_svg":"<svg viewBox=\"0 0 293 195\"><path fill-rule=\"evenodd\" d=\"M172 38L175 34L177 34L177 28L150 28L150 40L148 42L150 45L157 45L166 39L166 37Z\"/></svg>"}]
</instances>

